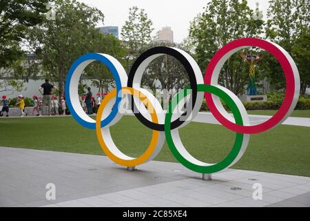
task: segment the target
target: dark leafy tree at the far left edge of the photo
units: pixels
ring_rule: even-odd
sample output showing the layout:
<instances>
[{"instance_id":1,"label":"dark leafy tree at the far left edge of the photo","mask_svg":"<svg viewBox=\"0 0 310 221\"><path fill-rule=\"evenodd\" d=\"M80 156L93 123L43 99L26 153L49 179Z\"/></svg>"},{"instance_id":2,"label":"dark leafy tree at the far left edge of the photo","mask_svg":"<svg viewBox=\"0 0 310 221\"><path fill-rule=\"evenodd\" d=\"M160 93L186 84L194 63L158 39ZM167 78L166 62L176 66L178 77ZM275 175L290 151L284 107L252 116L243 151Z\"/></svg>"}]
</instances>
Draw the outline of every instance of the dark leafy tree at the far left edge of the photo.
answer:
<instances>
[{"instance_id":1,"label":"dark leafy tree at the far left edge of the photo","mask_svg":"<svg viewBox=\"0 0 310 221\"><path fill-rule=\"evenodd\" d=\"M48 0L0 1L0 91L12 93L23 88L27 74L21 42L28 29L41 23ZM19 80L18 80L19 79Z\"/></svg>"}]
</instances>

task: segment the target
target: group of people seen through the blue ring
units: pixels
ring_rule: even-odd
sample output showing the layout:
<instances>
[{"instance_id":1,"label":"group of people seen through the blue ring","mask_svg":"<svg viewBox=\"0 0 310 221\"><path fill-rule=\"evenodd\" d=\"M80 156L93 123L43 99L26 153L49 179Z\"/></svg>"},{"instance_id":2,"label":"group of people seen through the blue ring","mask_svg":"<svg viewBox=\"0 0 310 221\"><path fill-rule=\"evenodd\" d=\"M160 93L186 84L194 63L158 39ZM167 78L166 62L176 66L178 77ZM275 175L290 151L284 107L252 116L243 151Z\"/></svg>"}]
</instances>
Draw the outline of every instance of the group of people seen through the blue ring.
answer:
<instances>
[{"instance_id":1,"label":"group of people seen through the blue ring","mask_svg":"<svg viewBox=\"0 0 310 221\"><path fill-rule=\"evenodd\" d=\"M104 93L103 96L105 96L106 94L107 93ZM89 87L87 88L87 94L82 95L81 98L82 98L81 106L83 110L85 111L85 113L87 113L87 115L96 114L101 104L100 93L96 93L96 99L95 99Z\"/></svg>"}]
</instances>

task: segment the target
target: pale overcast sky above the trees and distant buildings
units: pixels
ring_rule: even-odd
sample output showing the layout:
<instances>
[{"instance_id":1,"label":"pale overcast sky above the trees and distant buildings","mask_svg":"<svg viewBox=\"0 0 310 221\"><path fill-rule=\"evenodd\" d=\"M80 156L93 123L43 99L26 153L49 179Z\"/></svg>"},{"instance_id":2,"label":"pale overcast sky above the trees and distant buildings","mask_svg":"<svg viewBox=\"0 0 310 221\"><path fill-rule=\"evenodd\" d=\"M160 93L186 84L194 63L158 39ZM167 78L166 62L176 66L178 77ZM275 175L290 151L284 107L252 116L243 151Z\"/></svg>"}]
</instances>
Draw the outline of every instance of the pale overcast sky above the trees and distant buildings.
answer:
<instances>
[{"instance_id":1,"label":"pale overcast sky above the trees and distant buildings","mask_svg":"<svg viewBox=\"0 0 310 221\"><path fill-rule=\"evenodd\" d=\"M121 27L128 19L129 8L138 6L145 9L149 19L153 21L154 31L152 36L158 30L165 26L170 26L174 31L174 41L180 43L188 35L189 22L203 12L203 7L209 0L79 0L88 6L95 6L105 15L104 26L118 26L119 36L121 37ZM248 5L255 10L256 3L263 12L263 19L266 19L269 0L248 0Z\"/></svg>"}]
</instances>

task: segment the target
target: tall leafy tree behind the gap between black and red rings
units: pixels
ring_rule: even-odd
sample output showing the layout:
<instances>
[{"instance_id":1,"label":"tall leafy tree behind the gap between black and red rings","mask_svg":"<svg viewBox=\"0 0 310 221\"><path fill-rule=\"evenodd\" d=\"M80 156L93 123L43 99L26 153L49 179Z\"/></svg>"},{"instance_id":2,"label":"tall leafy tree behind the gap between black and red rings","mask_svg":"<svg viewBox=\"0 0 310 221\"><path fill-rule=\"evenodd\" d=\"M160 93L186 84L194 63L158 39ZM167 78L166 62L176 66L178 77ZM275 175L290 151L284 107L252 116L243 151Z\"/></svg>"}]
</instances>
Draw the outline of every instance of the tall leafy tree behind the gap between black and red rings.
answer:
<instances>
[{"instance_id":1,"label":"tall leafy tree behind the gap between black and red rings","mask_svg":"<svg viewBox=\"0 0 310 221\"><path fill-rule=\"evenodd\" d=\"M201 70L205 70L211 57L229 41L243 37L258 37L262 33L262 20L252 19L253 10L245 0L212 0L203 14L189 27L189 39L194 46ZM248 67L240 55L232 55L225 62L219 84L240 95L248 80Z\"/></svg>"}]
</instances>

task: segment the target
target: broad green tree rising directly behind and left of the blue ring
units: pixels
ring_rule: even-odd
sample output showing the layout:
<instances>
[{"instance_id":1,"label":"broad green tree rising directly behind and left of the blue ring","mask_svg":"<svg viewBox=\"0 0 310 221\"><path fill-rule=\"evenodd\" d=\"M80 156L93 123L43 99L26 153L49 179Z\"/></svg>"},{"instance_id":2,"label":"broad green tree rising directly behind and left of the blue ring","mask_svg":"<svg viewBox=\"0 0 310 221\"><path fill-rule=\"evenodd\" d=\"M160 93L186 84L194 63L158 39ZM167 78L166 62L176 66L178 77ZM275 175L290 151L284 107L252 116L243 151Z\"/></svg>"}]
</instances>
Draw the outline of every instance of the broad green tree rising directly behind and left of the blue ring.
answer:
<instances>
[{"instance_id":1,"label":"broad green tree rising directly behind and left of the blue ring","mask_svg":"<svg viewBox=\"0 0 310 221\"><path fill-rule=\"evenodd\" d=\"M29 48L39 59L45 77L59 82L60 94L66 74L74 60L86 52L98 51L102 35L97 23L103 23L103 13L74 0L54 1L55 20L44 19L31 28Z\"/></svg>"}]
</instances>

